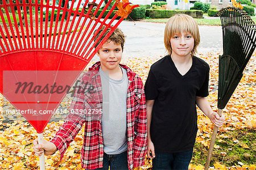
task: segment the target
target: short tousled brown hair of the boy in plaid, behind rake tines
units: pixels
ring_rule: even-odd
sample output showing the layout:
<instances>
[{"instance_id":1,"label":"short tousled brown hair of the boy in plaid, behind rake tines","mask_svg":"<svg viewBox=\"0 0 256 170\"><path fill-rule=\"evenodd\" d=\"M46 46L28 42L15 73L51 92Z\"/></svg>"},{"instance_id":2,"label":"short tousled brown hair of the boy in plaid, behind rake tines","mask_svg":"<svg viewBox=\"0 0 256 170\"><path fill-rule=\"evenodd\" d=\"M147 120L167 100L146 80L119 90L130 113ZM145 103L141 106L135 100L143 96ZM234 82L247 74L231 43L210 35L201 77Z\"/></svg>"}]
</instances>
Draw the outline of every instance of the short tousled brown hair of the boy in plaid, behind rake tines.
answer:
<instances>
[{"instance_id":1,"label":"short tousled brown hair of the boy in plaid, behind rake tines","mask_svg":"<svg viewBox=\"0 0 256 170\"><path fill-rule=\"evenodd\" d=\"M94 31L94 33L93 33L94 42L98 39L98 37L101 35L102 31L104 31L105 28L106 28L106 26L102 26L99 31L98 30ZM104 32L104 34L101 36L100 40L98 40L98 42L94 46L95 48L98 46L98 44L100 44L102 42L102 40L105 38L105 36L110 31L111 31L111 28L108 28ZM96 34L96 32L97 32L97 34ZM108 38L108 40L106 42L110 42L110 41L114 42L114 44L121 44L122 51L123 51L123 45L125 44L125 35L119 28L115 28L114 32L112 33L112 35L110 35L110 37Z\"/></svg>"}]
</instances>

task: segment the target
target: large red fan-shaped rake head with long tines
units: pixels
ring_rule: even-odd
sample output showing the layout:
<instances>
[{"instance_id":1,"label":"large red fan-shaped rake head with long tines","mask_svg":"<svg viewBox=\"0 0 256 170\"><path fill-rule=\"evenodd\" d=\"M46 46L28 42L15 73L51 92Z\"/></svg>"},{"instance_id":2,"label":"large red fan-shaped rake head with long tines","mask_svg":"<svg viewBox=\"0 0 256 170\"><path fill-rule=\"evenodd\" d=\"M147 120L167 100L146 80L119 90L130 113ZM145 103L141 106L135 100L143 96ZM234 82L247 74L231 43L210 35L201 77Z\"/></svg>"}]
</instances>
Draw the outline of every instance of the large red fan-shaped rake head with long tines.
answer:
<instances>
[{"instance_id":1,"label":"large red fan-shaped rake head with long tines","mask_svg":"<svg viewBox=\"0 0 256 170\"><path fill-rule=\"evenodd\" d=\"M59 1L58 4L56 0L0 2L0 92L16 109L56 109L65 93L34 94L34 97L23 93L21 97L15 98L15 83L31 81L35 82L35 85L51 85L56 80L62 80L59 82L62 83L60 85L71 86L124 19L125 16L118 17L118 11L113 15L116 3L107 11L112 0L108 1L102 10L100 6L104 0L98 5L95 2L96 0L86 0L83 3L81 0ZM127 3L123 4L123 8L127 8L126 6ZM134 7L137 6L129 9L132 10ZM126 13L130 13L131 10ZM93 41L93 32L104 26L105 30L111 28L111 31L95 47L104 31L96 42ZM40 71L49 72L46 75L40 74ZM63 74L60 71L78 72L67 75L68 73ZM27 76L24 77L22 74ZM38 132L43 132L51 115L46 114L44 118L40 115L30 119L30 116L23 114Z\"/></svg>"}]
</instances>

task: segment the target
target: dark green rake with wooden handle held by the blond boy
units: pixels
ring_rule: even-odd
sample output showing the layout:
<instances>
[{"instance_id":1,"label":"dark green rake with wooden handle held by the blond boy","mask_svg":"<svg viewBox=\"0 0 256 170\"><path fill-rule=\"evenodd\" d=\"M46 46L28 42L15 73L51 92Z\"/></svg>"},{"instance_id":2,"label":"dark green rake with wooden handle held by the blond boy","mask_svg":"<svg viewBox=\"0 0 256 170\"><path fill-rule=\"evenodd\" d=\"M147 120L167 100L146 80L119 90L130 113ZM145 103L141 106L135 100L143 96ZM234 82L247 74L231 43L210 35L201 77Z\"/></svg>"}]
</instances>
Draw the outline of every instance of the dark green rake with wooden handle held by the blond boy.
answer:
<instances>
[{"instance_id":1,"label":"dark green rake with wooden handle held by the blond boy","mask_svg":"<svg viewBox=\"0 0 256 170\"><path fill-rule=\"evenodd\" d=\"M238 83L246 64L256 47L256 26L250 16L236 7L218 12L223 35L223 55L219 57L218 114L221 116ZM214 126L205 170L208 170L218 127Z\"/></svg>"}]
</instances>

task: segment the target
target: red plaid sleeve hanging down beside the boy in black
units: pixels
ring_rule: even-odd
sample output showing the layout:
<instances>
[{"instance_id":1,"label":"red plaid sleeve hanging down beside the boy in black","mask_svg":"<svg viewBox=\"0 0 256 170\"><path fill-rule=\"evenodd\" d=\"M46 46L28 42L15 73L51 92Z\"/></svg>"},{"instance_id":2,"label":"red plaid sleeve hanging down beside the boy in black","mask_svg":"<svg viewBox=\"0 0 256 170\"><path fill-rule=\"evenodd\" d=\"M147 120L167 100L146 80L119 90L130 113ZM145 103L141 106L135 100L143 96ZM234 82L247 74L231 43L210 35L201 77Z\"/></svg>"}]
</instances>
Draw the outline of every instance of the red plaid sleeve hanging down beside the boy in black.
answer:
<instances>
[{"instance_id":1,"label":"red plaid sleeve hanging down beside the boy in black","mask_svg":"<svg viewBox=\"0 0 256 170\"><path fill-rule=\"evenodd\" d=\"M146 97L142 88L141 99L139 103L138 114L135 117L134 128L134 168L144 165L144 159L147 152L147 114Z\"/></svg>"}]
</instances>

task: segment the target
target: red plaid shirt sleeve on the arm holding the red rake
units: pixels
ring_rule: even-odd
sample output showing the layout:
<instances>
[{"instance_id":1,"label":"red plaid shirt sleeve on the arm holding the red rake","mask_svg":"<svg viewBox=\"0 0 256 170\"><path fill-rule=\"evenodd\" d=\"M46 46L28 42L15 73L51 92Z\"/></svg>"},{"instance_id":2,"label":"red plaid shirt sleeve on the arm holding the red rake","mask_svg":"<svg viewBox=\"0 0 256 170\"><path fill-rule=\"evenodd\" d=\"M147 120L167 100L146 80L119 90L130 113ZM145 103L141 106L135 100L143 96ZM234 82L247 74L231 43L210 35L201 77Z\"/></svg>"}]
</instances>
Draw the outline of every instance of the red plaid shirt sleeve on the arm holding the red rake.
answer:
<instances>
[{"instance_id":1,"label":"red plaid shirt sleeve on the arm holding the red rake","mask_svg":"<svg viewBox=\"0 0 256 170\"><path fill-rule=\"evenodd\" d=\"M65 122L60 127L59 131L56 132L56 135L50 140L50 142L54 143L59 150L60 159L63 158L69 144L76 138L76 135L79 133L85 122L85 118L83 118L81 114L77 113L77 110L84 109L85 99L85 95L83 93L77 93L78 89L79 88L75 89L73 101Z\"/></svg>"}]
</instances>

